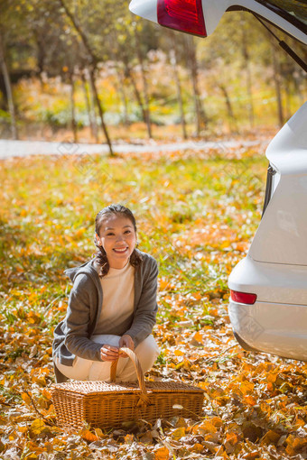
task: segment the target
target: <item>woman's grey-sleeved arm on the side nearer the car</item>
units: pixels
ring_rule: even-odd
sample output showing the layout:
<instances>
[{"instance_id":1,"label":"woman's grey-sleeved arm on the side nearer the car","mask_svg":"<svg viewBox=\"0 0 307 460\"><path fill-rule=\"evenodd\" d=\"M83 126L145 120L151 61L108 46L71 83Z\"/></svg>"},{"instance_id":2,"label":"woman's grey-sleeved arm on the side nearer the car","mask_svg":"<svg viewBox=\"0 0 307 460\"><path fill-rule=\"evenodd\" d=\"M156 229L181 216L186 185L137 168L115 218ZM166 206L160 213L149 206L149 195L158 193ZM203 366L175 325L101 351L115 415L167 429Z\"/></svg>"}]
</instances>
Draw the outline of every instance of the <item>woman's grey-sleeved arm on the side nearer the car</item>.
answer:
<instances>
[{"instance_id":1,"label":"woman's grey-sleeved arm on the side nearer the car","mask_svg":"<svg viewBox=\"0 0 307 460\"><path fill-rule=\"evenodd\" d=\"M141 297L135 309L135 316L131 327L125 335L131 336L135 347L149 336L156 322L158 285L158 264L151 258L151 266L144 277Z\"/></svg>"}]
</instances>

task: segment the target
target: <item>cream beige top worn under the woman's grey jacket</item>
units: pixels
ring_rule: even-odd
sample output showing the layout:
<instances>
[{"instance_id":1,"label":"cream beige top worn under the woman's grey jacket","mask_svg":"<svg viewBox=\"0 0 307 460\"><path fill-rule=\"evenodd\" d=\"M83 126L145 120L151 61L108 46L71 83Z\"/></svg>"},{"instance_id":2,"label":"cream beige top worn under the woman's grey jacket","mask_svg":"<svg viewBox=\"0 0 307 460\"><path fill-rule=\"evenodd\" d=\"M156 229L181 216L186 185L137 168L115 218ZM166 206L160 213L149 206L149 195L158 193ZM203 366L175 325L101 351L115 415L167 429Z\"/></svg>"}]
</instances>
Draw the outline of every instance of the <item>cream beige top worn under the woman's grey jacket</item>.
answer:
<instances>
[{"instance_id":1,"label":"cream beige top worn under the woman's grey jacket","mask_svg":"<svg viewBox=\"0 0 307 460\"><path fill-rule=\"evenodd\" d=\"M110 268L107 275L100 278L103 301L100 317L94 334L109 334L134 314L135 268L129 262L123 269Z\"/></svg>"}]
</instances>

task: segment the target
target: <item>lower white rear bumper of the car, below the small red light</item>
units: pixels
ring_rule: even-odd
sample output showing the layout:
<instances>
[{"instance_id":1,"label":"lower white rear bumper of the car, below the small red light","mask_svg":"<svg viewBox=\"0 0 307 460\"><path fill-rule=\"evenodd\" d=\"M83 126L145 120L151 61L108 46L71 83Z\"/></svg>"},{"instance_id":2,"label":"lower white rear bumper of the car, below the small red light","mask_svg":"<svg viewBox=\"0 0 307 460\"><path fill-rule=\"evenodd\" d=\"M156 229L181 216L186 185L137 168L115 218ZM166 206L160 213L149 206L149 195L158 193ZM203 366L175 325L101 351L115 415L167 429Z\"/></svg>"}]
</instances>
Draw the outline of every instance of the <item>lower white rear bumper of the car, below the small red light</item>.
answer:
<instances>
[{"instance_id":1,"label":"lower white rear bumper of the car, below the small red light","mask_svg":"<svg viewBox=\"0 0 307 460\"><path fill-rule=\"evenodd\" d=\"M230 299L228 313L244 348L307 361L307 305L257 301L246 305Z\"/></svg>"}]
</instances>

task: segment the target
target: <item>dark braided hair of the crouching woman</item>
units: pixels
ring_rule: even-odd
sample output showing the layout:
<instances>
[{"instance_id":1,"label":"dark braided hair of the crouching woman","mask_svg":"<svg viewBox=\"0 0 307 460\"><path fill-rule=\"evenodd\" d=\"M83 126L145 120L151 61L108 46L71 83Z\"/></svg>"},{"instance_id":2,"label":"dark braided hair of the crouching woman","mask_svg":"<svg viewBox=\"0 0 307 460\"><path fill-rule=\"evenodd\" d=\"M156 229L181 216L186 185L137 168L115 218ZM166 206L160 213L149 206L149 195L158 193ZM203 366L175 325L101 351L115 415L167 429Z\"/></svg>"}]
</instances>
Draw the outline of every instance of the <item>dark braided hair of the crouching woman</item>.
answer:
<instances>
[{"instance_id":1,"label":"dark braided hair of the crouching woman","mask_svg":"<svg viewBox=\"0 0 307 460\"><path fill-rule=\"evenodd\" d=\"M122 216L128 218L132 225L134 225L135 229L135 234L136 234L136 222L135 222L135 216L132 214L130 209L123 205L110 205L107 207L104 207L101 209L101 211L98 212L98 215L95 218L95 232L97 235L99 235L101 225L103 224L103 221L106 217L108 216ZM94 240L95 246L98 248L98 252L95 254L96 255L96 262L98 263L100 270L98 271L98 275L100 278L103 276L107 275L107 272L109 271L109 264L107 260L107 253L102 247L102 245L98 244L97 237L95 235L95 240ZM130 255L130 263L133 267L136 267L142 262L142 257L139 253L137 253L134 249L133 253Z\"/></svg>"}]
</instances>

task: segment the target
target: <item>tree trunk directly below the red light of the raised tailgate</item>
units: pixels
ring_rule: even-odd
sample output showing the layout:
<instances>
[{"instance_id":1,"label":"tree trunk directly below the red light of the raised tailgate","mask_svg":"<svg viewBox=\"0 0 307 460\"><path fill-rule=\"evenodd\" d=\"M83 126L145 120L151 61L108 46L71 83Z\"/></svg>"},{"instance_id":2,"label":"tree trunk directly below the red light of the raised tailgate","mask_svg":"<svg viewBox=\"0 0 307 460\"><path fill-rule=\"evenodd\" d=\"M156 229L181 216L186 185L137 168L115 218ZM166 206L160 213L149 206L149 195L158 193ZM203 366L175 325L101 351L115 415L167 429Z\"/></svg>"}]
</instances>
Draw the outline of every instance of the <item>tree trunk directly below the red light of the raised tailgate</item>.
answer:
<instances>
[{"instance_id":1,"label":"tree trunk directly below the red light of the raised tailgate","mask_svg":"<svg viewBox=\"0 0 307 460\"><path fill-rule=\"evenodd\" d=\"M208 124L207 115L200 100L200 84L199 84L199 66L196 57L196 46L193 37L187 35L185 37L187 48L188 66L191 72L191 80L193 87L193 99L196 114L196 134L200 136L201 127L203 124Z\"/></svg>"}]
</instances>

